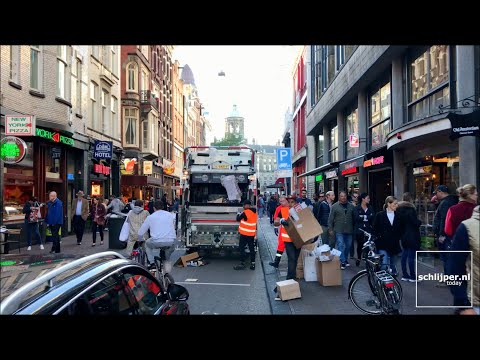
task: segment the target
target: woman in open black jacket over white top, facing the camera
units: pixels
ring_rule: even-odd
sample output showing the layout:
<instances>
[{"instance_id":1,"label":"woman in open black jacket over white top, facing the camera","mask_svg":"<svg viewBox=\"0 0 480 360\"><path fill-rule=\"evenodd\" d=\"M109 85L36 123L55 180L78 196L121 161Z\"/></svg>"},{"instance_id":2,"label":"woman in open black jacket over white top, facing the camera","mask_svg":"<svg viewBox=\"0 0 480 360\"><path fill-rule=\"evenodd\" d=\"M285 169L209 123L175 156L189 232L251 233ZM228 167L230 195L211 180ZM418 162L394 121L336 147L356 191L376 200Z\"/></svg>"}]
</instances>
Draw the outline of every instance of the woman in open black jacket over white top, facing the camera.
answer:
<instances>
[{"instance_id":1,"label":"woman in open black jacket over white top, facing the camera","mask_svg":"<svg viewBox=\"0 0 480 360\"><path fill-rule=\"evenodd\" d=\"M403 224L395 211L398 207L397 198L387 196L383 211L375 215L373 221L373 232L376 236L375 245L380 254L383 254L382 270L390 271L397 276L397 256L401 253L400 240L403 233Z\"/></svg>"}]
</instances>

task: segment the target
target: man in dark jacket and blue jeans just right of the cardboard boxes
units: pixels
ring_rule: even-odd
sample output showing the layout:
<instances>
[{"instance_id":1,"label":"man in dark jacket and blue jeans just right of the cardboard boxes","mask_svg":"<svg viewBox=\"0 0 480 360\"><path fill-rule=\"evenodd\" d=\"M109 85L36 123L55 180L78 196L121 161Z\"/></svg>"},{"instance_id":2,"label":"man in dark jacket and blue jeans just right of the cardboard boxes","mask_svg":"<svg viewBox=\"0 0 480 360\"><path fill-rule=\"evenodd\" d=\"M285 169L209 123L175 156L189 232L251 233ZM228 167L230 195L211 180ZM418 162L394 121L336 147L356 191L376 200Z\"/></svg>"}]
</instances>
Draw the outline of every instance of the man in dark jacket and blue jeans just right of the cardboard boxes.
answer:
<instances>
[{"instance_id":1,"label":"man in dark jacket and blue jeans just right of the cardboard boxes","mask_svg":"<svg viewBox=\"0 0 480 360\"><path fill-rule=\"evenodd\" d=\"M328 217L329 235L333 236L333 232L335 232L337 249L342 252L340 254L340 268L342 270L350 266L348 254L350 254L353 239L353 224L355 223L353 217L354 209L355 207L347 201L347 192L340 191L338 194L338 202L332 206Z\"/></svg>"}]
</instances>

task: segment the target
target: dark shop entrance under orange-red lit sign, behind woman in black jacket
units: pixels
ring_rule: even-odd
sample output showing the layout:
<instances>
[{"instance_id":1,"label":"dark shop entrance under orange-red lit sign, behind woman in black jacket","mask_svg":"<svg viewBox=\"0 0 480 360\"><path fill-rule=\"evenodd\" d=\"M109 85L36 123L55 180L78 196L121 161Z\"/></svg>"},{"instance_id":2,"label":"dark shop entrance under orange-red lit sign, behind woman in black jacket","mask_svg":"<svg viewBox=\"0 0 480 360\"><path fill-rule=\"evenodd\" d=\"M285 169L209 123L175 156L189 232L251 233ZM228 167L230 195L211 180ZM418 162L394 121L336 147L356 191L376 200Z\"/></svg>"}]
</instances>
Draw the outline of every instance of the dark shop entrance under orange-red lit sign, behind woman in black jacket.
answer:
<instances>
[{"instance_id":1,"label":"dark shop entrance under orange-red lit sign, behind woman in black jacket","mask_svg":"<svg viewBox=\"0 0 480 360\"><path fill-rule=\"evenodd\" d=\"M392 150L383 147L365 154L363 168L367 172L370 205L375 212L381 211L387 196L393 195Z\"/></svg>"}]
</instances>

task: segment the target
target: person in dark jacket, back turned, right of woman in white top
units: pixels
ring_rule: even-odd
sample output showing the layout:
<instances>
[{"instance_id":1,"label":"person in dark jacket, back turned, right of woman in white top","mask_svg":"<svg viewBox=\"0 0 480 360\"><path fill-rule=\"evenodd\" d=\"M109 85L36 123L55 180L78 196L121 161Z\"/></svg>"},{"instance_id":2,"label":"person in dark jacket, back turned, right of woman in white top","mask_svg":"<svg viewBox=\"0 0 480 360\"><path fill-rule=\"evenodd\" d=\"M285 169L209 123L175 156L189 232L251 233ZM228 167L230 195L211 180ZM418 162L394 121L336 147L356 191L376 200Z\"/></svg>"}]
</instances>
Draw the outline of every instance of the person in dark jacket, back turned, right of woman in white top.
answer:
<instances>
[{"instance_id":1,"label":"person in dark jacket, back turned, right of woman in white top","mask_svg":"<svg viewBox=\"0 0 480 360\"><path fill-rule=\"evenodd\" d=\"M413 205L413 196L410 193L403 194L403 201L398 203L397 215L402 219L404 226L401 238L402 244L402 281L416 282L415 274L415 255L420 250L420 225L422 222L418 219L417 210ZM407 271L407 260L410 273Z\"/></svg>"}]
</instances>

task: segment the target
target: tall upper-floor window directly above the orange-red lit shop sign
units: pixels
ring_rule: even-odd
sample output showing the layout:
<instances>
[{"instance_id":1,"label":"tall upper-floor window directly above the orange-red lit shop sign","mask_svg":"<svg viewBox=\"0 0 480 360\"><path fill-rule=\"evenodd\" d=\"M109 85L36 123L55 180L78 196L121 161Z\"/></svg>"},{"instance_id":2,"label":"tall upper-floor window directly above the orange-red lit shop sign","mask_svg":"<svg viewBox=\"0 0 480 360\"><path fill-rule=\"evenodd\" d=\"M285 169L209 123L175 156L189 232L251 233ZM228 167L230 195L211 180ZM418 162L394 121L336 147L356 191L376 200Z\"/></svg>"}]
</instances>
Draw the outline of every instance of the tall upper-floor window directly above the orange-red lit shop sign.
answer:
<instances>
[{"instance_id":1,"label":"tall upper-floor window directly above the orange-red lit shop sign","mask_svg":"<svg viewBox=\"0 0 480 360\"><path fill-rule=\"evenodd\" d=\"M391 130L390 82L377 87L370 96L370 148L385 144Z\"/></svg>"}]
</instances>

